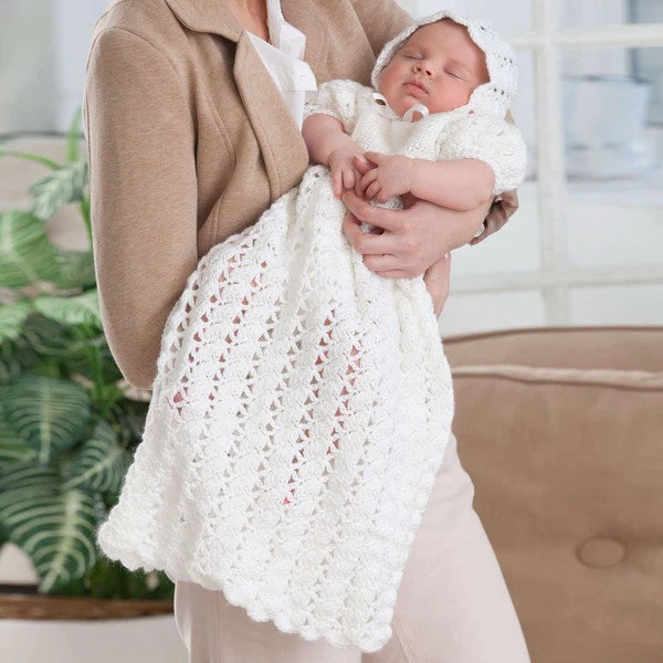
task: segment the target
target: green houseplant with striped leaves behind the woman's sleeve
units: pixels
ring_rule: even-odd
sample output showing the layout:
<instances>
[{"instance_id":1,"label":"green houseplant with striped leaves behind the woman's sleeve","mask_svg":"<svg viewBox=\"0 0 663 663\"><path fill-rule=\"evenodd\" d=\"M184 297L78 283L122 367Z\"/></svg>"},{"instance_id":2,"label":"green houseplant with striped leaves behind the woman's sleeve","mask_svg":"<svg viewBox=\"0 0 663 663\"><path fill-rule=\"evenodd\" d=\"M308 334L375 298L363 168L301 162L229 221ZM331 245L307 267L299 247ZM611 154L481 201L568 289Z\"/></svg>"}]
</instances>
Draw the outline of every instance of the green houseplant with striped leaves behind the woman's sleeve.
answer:
<instances>
[{"instance_id":1,"label":"green houseplant with striped leaves behind the woman's sleeve","mask_svg":"<svg viewBox=\"0 0 663 663\"><path fill-rule=\"evenodd\" d=\"M40 593L170 600L164 573L128 572L95 544L148 403L131 396L102 328L80 124L78 110L64 164L0 146L0 158L49 170L30 187L31 209L0 212L0 548L11 541L31 558ZM71 204L87 251L48 238L49 220Z\"/></svg>"}]
</instances>

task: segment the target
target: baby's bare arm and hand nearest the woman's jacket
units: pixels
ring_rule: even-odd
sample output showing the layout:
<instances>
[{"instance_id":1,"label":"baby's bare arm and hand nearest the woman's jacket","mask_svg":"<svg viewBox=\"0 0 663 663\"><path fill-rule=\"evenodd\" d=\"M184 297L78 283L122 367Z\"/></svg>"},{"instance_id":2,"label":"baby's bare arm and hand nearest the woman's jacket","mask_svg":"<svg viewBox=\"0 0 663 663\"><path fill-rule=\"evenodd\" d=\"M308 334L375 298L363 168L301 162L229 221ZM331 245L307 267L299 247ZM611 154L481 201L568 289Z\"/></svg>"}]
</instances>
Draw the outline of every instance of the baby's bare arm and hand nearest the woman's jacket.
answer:
<instances>
[{"instance_id":1,"label":"baby's bare arm and hand nearest the woman's jacket","mask_svg":"<svg viewBox=\"0 0 663 663\"><path fill-rule=\"evenodd\" d=\"M352 159L361 148L344 131L343 123L330 115L314 113L302 127L311 160L332 169L334 194L340 198L344 189L352 189L359 181Z\"/></svg>"}]
</instances>

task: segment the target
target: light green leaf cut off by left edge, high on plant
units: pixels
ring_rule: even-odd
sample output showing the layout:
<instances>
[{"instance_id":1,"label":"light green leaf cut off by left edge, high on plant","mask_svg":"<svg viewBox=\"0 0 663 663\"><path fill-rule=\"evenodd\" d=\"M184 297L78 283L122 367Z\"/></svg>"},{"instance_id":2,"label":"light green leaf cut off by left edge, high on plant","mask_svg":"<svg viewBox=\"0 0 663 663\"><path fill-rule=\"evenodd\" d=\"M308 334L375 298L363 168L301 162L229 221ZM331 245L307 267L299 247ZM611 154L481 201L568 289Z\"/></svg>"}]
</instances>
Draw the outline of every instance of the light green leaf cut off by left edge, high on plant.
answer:
<instances>
[{"instance_id":1,"label":"light green leaf cut off by left edge, high on plant","mask_svg":"<svg viewBox=\"0 0 663 663\"><path fill-rule=\"evenodd\" d=\"M42 221L21 210L0 212L0 286L52 281L60 267Z\"/></svg>"}]
</instances>

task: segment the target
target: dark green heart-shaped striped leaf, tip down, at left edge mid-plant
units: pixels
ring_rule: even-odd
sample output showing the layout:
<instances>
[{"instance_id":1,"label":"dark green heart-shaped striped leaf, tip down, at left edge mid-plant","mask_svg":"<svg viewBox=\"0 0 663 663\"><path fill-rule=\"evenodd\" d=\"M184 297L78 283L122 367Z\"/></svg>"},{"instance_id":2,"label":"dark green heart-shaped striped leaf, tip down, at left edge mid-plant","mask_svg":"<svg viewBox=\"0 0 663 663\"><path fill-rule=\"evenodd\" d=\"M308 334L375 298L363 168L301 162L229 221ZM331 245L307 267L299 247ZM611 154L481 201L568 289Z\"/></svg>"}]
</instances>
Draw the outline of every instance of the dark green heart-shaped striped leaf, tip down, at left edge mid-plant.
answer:
<instances>
[{"instance_id":1,"label":"dark green heart-shaped striped leaf, tip down, at left edge mid-plant","mask_svg":"<svg viewBox=\"0 0 663 663\"><path fill-rule=\"evenodd\" d=\"M85 387L24 373L7 386L6 420L46 464L73 446L90 420L91 402Z\"/></svg>"}]
</instances>

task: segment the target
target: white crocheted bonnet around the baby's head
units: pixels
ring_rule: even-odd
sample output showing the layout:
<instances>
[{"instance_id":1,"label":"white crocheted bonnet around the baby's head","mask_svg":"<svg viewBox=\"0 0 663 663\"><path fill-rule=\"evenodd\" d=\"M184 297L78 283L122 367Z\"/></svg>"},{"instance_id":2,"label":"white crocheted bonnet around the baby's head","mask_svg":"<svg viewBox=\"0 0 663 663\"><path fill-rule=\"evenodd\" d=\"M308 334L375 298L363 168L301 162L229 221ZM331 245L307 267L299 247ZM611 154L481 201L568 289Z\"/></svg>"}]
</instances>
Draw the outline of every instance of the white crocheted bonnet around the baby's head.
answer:
<instances>
[{"instance_id":1,"label":"white crocheted bonnet around the baby's head","mask_svg":"<svg viewBox=\"0 0 663 663\"><path fill-rule=\"evenodd\" d=\"M412 25L406 28L399 35L388 42L378 56L372 71L372 86L379 90L382 71L415 30L442 19L451 19L461 25L465 25L472 41L486 55L488 82L478 85L470 96L467 104L456 110L504 118L518 90L516 54L512 46L496 34L487 23L465 18L454 11L439 11L430 17L418 19Z\"/></svg>"}]
</instances>

